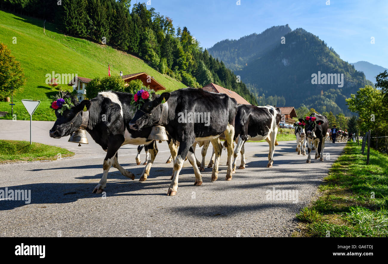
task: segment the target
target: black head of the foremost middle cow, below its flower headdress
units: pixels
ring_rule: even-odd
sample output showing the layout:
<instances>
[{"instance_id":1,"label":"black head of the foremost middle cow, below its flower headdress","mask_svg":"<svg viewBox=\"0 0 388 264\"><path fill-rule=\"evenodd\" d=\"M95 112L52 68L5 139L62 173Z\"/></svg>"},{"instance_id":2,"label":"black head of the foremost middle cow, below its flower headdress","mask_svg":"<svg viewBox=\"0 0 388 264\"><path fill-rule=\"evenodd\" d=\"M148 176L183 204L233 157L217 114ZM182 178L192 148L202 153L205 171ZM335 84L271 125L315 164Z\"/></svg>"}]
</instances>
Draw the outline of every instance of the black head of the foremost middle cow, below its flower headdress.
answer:
<instances>
[{"instance_id":1,"label":"black head of the foremost middle cow, below its flower headdress","mask_svg":"<svg viewBox=\"0 0 388 264\"><path fill-rule=\"evenodd\" d=\"M143 105L136 111L135 116L129 122L130 129L140 130L143 127L151 127L159 122L162 108L160 104L167 102L170 93L152 94L144 100Z\"/></svg>"}]
</instances>

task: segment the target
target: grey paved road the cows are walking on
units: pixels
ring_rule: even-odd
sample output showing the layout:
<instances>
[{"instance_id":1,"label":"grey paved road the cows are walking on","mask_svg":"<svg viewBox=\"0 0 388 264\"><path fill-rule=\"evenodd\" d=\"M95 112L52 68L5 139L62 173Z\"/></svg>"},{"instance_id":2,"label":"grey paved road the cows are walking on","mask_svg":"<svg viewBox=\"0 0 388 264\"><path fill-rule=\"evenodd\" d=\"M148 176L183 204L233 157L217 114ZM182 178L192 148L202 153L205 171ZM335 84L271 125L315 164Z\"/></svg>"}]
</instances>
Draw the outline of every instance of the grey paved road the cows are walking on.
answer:
<instances>
[{"instance_id":1,"label":"grey paved road the cows are walking on","mask_svg":"<svg viewBox=\"0 0 388 264\"><path fill-rule=\"evenodd\" d=\"M102 176L105 152L90 136L89 145L77 147L67 142L68 137L49 138L53 122L33 123L33 141L77 154L59 161L0 165L0 190L31 190L30 204L0 201L0 236L290 236L297 226L295 214L310 202L345 146L327 143L330 160L313 159L307 164L305 156L295 153L294 141L279 142L274 167L265 168L268 144L247 143L246 169L237 170L232 181L222 180L227 169L223 151L219 180L210 182L211 169L206 168L203 184L193 186L194 171L185 161L178 193L169 197L172 165L165 163L167 144L158 144L158 156L145 182L137 181L143 166L135 164L136 146L128 145L119 150L119 162L137 179L132 181L111 168L106 197L102 197L92 190ZM28 121L0 120L0 139L29 140L28 125ZM200 149L196 153L199 156ZM210 155L208 151L207 162ZM298 199L267 197L273 188L294 194L298 190Z\"/></svg>"}]
</instances>

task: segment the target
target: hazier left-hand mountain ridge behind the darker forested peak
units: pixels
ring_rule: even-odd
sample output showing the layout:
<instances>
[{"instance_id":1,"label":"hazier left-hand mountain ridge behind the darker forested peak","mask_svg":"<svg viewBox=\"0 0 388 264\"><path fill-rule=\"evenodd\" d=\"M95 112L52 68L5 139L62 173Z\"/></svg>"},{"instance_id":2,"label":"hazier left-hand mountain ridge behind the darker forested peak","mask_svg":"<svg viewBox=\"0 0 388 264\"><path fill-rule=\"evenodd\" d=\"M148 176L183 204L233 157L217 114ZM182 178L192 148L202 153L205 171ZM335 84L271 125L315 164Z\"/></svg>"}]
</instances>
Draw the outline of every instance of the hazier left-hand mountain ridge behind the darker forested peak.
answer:
<instances>
[{"instance_id":1,"label":"hazier left-hand mountain ridge behind the darker forested peak","mask_svg":"<svg viewBox=\"0 0 388 264\"><path fill-rule=\"evenodd\" d=\"M208 51L215 58L222 58L231 70L241 70L250 60L262 57L280 43L281 37L291 32L288 26L273 26L260 34L253 33L238 40L225 39Z\"/></svg>"}]
</instances>

